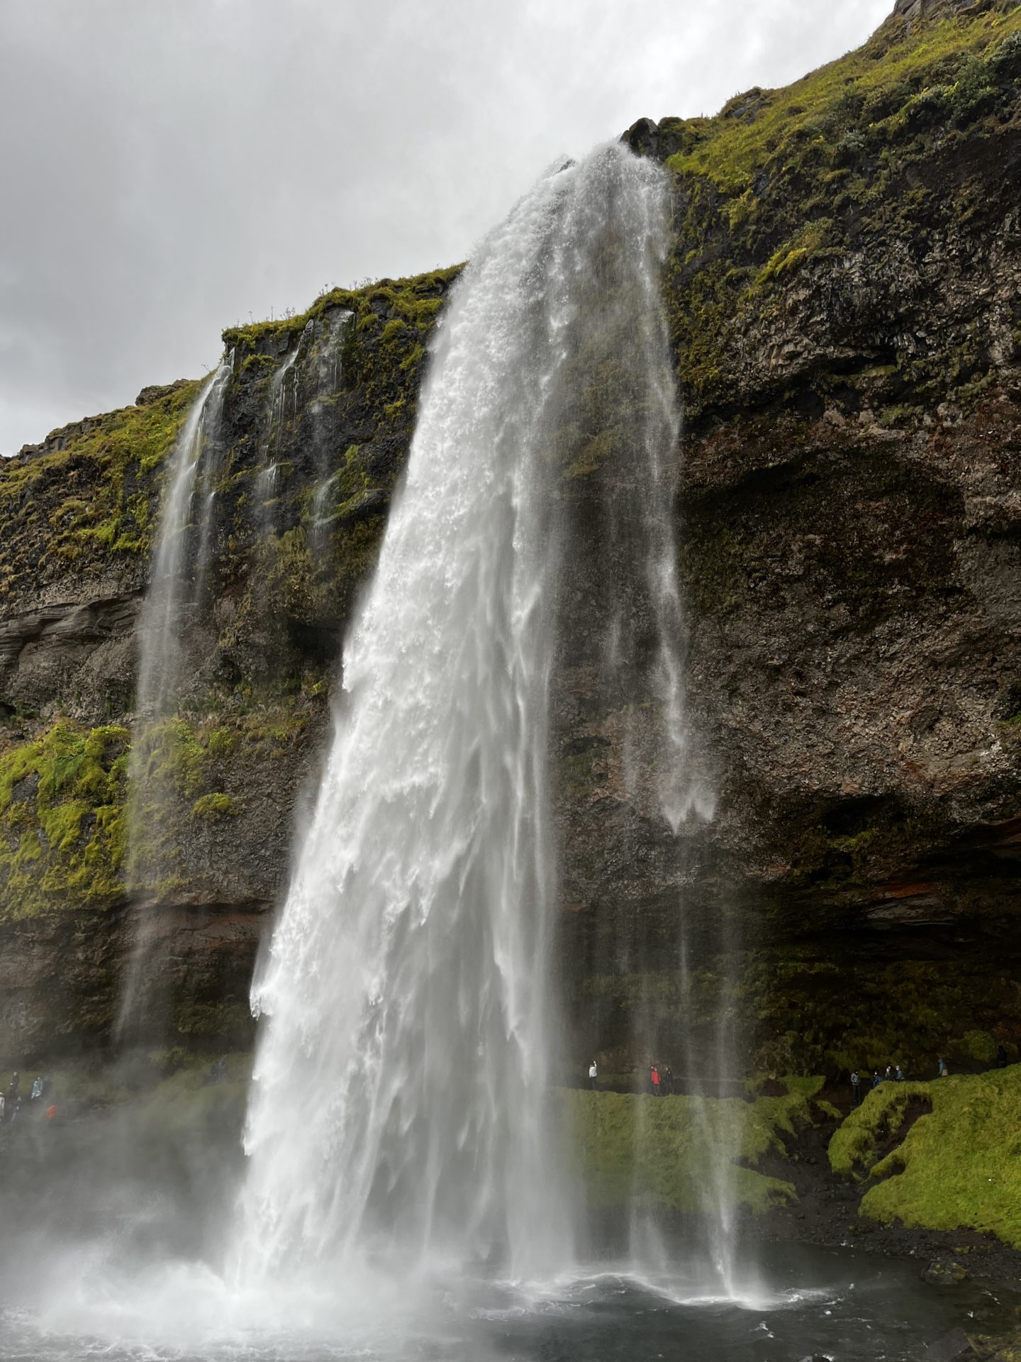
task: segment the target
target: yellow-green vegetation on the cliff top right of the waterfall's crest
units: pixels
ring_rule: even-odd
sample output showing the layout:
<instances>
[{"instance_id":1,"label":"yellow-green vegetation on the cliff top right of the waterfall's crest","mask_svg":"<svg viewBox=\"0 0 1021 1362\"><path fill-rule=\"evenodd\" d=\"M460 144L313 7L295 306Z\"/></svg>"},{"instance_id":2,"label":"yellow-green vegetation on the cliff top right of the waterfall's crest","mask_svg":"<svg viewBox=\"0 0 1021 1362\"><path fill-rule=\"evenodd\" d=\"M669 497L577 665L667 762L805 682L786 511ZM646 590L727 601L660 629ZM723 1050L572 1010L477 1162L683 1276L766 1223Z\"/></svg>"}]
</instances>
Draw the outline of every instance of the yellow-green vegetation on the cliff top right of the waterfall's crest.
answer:
<instances>
[{"instance_id":1,"label":"yellow-green vegetation on the cliff top right of the waterfall's crest","mask_svg":"<svg viewBox=\"0 0 1021 1362\"><path fill-rule=\"evenodd\" d=\"M750 90L713 118L663 120L678 192L668 311L689 415L741 400L745 338L790 324L799 271L867 249L873 272L896 272L988 210L976 161L1017 136L1020 82L1021 10L999 0L937 7L924 23L892 18L787 89ZM847 281L833 283L843 293ZM834 355L834 372L813 380L847 387L858 370L893 413L908 388L965 396L983 380L984 346L969 319L924 355L863 338L860 355ZM870 362L886 375L869 377Z\"/></svg>"}]
</instances>

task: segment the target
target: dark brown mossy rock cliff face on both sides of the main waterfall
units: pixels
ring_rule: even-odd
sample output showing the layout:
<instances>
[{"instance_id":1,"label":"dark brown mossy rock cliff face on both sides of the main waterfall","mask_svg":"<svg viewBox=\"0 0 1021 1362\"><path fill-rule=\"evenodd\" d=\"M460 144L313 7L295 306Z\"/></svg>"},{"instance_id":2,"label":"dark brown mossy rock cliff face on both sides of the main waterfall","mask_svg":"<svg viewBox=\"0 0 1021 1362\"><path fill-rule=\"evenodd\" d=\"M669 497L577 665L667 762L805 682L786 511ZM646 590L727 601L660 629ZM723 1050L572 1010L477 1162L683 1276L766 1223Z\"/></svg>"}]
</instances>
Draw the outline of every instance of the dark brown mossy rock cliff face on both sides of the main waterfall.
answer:
<instances>
[{"instance_id":1,"label":"dark brown mossy rock cliff face on both sides of the main waterfall","mask_svg":"<svg viewBox=\"0 0 1021 1362\"><path fill-rule=\"evenodd\" d=\"M610 474L576 462L557 493L576 624L554 759L585 1051L623 1057L638 997L663 1053L677 1043L682 922L700 968L685 1024L722 1001L757 1064L1021 1041L1021 12L924 8L788 90L626 135L674 177L687 691L716 816L678 850L649 782L622 782L592 591L613 573ZM10 1058L106 1035L139 915L170 1038L244 1042L452 275L225 335L214 567L161 748L180 857L159 883L128 885L124 861L133 628L197 384L0 469Z\"/></svg>"}]
</instances>

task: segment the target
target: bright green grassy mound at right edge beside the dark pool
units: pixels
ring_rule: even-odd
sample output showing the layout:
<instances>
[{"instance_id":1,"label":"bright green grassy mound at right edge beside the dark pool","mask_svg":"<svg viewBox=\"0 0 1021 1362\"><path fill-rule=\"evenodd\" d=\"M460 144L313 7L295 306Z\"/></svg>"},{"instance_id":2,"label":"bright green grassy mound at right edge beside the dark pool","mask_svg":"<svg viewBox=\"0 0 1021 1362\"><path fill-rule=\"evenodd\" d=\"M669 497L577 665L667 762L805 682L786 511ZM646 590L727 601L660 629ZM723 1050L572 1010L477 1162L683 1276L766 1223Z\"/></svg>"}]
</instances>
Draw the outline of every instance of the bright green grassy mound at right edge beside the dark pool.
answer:
<instances>
[{"instance_id":1,"label":"bright green grassy mound at right edge beside the dark pool","mask_svg":"<svg viewBox=\"0 0 1021 1362\"><path fill-rule=\"evenodd\" d=\"M933 1103L875 1162L877 1133L912 1098ZM882 1084L833 1136L837 1173L867 1173L862 1214L931 1230L975 1229L1021 1248L1021 1065L933 1083ZM884 1181L875 1181L882 1178Z\"/></svg>"}]
</instances>

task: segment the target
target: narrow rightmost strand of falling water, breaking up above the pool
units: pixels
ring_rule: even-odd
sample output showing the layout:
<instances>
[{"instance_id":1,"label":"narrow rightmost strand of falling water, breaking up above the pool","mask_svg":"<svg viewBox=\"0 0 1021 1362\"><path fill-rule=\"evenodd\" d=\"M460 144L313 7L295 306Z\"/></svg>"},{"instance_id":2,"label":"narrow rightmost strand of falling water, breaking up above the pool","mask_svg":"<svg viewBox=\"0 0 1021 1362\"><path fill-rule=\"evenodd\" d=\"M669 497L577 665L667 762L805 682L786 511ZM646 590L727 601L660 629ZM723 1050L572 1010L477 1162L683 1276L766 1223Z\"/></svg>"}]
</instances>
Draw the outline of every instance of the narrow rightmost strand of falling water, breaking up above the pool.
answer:
<instances>
[{"instance_id":1,"label":"narrow rightmost strand of falling water, breaking up above the pool","mask_svg":"<svg viewBox=\"0 0 1021 1362\"><path fill-rule=\"evenodd\" d=\"M666 185L649 184L634 211L628 248L610 271L610 286L606 278L600 281L588 315L589 343L606 346L610 339L614 364L630 380L615 395L614 421L619 433L599 507L602 535L617 546L599 588L609 607L600 680L623 711L621 745L629 799L645 816L658 813L666 821L675 838L674 858L682 865L686 843L678 834L689 823L712 820L716 799L693 755L685 688L686 628L677 538L681 409L660 301L660 266L670 232ZM683 880L683 873L678 878ZM690 1019L696 1000L686 907L682 893L677 903L678 955L672 963L679 978L681 1015ZM726 925L716 926L716 936L720 953L732 951L732 943L723 940ZM653 962L644 959L644 981L655 972ZM633 1046L648 1056L656 1056L652 1012L643 998L633 1016ZM707 1288L732 1297L739 1293L732 1162L739 1151L734 1139L739 1120L705 1095L707 1088L719 1087L734 1069L724 1001L717 1000L708 1053L690 1042L690 1026L682 1030L685 1039L674 1060L679 1061L679 1076L694 1090L689 1114L705 1151L708 1174L697 1192L708 1227L709 1272L702 1273L702 1280ZM648 1137L649 1114L644 1105L638 1106L637 1143ZM640 1200L636 1197L633 1211L632 1260L638 1269L667 1267L674 1254L664 1249Z\"/></svg>"}]
</instances>

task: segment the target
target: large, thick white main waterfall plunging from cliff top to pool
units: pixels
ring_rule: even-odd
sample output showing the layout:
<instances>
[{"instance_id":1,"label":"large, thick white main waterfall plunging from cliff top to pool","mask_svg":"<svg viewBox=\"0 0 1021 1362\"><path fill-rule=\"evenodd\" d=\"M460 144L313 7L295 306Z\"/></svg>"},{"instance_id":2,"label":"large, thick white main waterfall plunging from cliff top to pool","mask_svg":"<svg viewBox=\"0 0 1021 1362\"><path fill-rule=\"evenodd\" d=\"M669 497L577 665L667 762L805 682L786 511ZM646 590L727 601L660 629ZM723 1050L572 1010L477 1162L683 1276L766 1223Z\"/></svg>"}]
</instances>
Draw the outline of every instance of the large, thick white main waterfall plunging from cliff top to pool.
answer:
<instances>
[{"instance_id":1,"label":"large, thick white main waterfall plunging from cliff top to pool","mask_svg":"<svg viewBox=\"0 0 1021 1362\"><path fill-rule=\"evenodd\" d=\"M242 1276L353 1252L517 1276L572 1258L546 1121L558 452L607 252L649 272L630 300L659 315L663 212L659 168L599 148L489 236L441 323L253 990Z\"/></svg>"}]
</instances>

